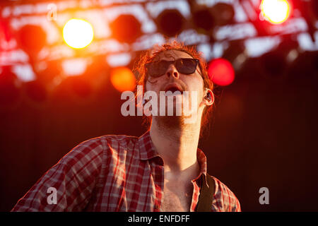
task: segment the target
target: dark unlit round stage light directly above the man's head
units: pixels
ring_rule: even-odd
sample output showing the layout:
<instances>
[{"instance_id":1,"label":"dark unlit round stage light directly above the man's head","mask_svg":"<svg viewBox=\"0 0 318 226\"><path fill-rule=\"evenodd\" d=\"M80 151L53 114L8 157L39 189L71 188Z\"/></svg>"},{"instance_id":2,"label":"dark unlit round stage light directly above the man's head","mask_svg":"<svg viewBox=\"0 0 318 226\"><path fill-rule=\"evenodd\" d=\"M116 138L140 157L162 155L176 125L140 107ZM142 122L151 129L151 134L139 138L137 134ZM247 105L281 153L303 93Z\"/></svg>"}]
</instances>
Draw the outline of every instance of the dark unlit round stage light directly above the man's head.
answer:
<instances>
[{"instance_id":1,"label":"dark unlit round stage light directly above the man's head","mask_svg":"<svg viewBox=\"0 0 318 226\"><path fill-rule=\"evenodd\" d=\"M185 19L177 9L166 9L155 19L159 32L167 37L175 37L182 32Z\"/></svg>"}]
</instances>

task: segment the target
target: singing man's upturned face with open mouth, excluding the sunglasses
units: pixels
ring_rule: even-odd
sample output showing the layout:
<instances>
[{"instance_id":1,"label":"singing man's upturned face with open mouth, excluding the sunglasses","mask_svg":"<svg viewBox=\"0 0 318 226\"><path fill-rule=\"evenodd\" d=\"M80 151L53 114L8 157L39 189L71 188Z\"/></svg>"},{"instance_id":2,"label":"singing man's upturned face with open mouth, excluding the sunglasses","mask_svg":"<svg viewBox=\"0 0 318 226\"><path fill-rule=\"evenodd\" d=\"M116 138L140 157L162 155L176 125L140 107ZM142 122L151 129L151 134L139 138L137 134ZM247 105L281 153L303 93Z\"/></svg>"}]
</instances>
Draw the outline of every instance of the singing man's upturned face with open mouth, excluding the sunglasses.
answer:
<instances>
[{"instance_id":1,"label":"singing man's upturned face with open mouth, excluding the sunglasses","mask_svg":"<svg viewBox=\"0 0 318 226\"><path fill-rule=\"evenodd\" d=\"M154 61L175 61L177 59L184 58L193 59L193 57L186 52L178 50L167 50L158 54L158 56L155 57ZM146 91L154 91L158 95L158 97L160 97L160 91L167 92L168 90L172 90L172 93L174 93L176 87L181 93L183 91L189 92L189 106L192 106L192 100L195 100L195 109L192 110L198 112L201 101L204 97L204 80L201 76L199 64L198 66L196 66L196 71L194 71L194 73L182 74L177 71L176 66L172 63L167 67L167 70L162 76L158 78L152 78L151 76L148 76L148 81L146 82ZM194 95L194 93L196 93L196 97L195 99L192 99L192 95ZM184 102L184 99L182 100Z\"/></svg>"}]
</instances>

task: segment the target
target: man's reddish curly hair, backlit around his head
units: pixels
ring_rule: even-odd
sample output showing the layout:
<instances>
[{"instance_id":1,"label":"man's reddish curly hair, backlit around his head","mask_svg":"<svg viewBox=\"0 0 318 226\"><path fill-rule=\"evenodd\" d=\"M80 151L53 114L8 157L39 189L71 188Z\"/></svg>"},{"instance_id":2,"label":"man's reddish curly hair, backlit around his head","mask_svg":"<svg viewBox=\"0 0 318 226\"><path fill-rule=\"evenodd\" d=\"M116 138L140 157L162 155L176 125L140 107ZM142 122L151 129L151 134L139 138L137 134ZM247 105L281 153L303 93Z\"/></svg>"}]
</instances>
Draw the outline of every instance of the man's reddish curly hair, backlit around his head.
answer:
<instances>
[{"instance_id":1,"label":"man's reddish curly hair, backlit around his head","mask_svg":"<svg viewBox=\"0 0 318 226\"><path fill-rule=\"evenodd\" d=\"M153 49L149 49L146 54L143 54L139 61L135 62L134 72L137 75L137 85L143 85L143 94L146 92L146 81L148 79L148 75L146 73L146 64L152 62L155 57L158 56L161 52L165 52L167 50L177 50L182 51L189 54L194 59L199 59L199 67L201 69L201 76L204 79L204 88L208 88L213 92L213 83L211 82L210 78L208 77L207 65L204 57L202 57L201 53L197 52L194 46L187 46L183 42L165 42L165 44L158 45L156 44ZM137 93L135 91L135 97ZM200 131L200 138L203 134L203 131L208 129L210 126L209 122L211 121L211 113L213 110L213 105L207 106L204 108L204 112L202 113L201 119L201 131ZM143 126L146 126L146 129L150 129L151 126L151 116L147 117L143 115Z\"/></svg>"}]
</instances>

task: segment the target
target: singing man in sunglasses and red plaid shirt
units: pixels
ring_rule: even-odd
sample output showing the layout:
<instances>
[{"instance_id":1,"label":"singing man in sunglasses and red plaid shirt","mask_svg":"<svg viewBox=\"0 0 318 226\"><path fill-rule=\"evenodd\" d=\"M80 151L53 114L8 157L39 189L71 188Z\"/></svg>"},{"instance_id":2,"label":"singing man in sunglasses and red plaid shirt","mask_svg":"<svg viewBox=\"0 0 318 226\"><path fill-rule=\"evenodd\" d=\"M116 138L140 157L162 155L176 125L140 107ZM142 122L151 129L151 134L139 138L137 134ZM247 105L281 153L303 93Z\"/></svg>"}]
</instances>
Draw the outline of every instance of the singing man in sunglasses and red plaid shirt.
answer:
<instances>
[{"instance_id":1,"label":"singing man in sunglasses and red plaid shirt","mask_svg":"<svg viewBox=\"0 0 318 226\"><path fill-rule=\"evenodd\" d=\"M187 121L189 112L153 114L147 118L150 129L139 138L109 135L85 141L49 169L13 211L197 210L202 186L211 177L198 148L214 101L206 64L193 48L172 42L142 57L139 75L143 93L189 92L194 121ZM166 110L168 104L160 107ZM240 211L232 191L211 178L211 211Z\"/></svg>"}]
</instances>

